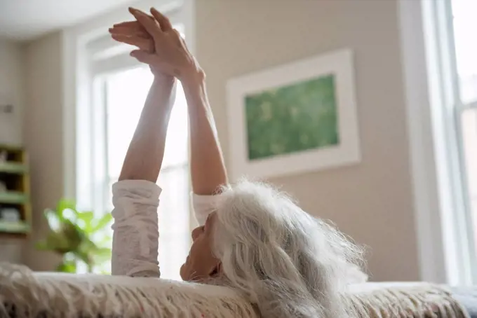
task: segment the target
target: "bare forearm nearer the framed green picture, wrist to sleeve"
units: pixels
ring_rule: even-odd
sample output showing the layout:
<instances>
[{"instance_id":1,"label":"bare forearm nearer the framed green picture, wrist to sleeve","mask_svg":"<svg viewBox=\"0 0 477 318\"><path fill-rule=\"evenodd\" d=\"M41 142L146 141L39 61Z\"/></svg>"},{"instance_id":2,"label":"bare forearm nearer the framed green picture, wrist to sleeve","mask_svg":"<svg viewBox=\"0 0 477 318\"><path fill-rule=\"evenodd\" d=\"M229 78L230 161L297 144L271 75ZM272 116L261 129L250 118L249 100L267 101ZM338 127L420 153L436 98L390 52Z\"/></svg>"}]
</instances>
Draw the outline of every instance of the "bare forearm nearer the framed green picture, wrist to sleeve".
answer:
<instances>
[{"instance_id":1,"label":"bare forearm nearer the framed green picture, wrist to sleeve","mask_svg":"<svg viewBox=\"0 0 477 318\"><path fill-rule=\"evenodd\" d=\"M212 110L208 102L203 74L182 81L189 109L192 189L199 195L212 195L227 184Z\"/></svg>"}]
</instances>

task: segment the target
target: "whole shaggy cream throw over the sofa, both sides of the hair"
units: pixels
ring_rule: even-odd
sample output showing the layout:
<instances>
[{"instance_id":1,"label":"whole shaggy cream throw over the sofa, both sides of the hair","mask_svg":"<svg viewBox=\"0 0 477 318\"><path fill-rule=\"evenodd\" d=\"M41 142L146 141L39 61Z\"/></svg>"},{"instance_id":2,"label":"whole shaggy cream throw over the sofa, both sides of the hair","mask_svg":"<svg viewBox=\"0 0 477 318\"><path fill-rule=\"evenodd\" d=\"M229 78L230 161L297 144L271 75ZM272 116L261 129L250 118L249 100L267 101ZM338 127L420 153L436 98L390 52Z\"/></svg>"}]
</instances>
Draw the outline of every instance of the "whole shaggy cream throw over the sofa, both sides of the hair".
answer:
<instances>
[{"instance_id":1,"label":"whole shaggy cream throw over the sofa, both sides of the hair","mask_svg":"<svg viewBox=\"0 0 477 318\"><path fill-rule=\"evenodd\" d=\"M359 284L343 295L354 317L469 317L440 286ZM34 273L0 264L0 317L260 317L221 286L166 279ZM319 318L319 317L317 317Z\"/></svg>"}]
</instances>

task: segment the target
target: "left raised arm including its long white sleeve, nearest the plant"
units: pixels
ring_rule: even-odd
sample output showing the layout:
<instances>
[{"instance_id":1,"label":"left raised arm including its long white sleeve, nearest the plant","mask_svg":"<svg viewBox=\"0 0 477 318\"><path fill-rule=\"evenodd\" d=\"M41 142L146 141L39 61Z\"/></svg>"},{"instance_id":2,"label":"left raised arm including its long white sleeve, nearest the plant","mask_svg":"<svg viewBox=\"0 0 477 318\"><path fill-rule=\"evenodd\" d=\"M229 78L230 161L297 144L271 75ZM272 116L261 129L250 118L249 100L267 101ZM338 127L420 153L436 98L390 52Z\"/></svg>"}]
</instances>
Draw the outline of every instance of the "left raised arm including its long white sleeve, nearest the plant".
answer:
<instances>
[{"instance_id":1,"label":"left raised arm including its long white sleeve, nearest the plant","mask_svg":"<svg viewBox=\"0 0 477 318\"><path fill-rule=\"evenodd\" d=\"M138 20L144 20L140 15ZM154 23L149 27L157 27ZM135 50L131 55L138 60ZM112 274L159 277L156 185L175 99L176 80L151 66L154 74L140 120L130 141L119 182L113 186Z\"/></svg>"}]
</instances>

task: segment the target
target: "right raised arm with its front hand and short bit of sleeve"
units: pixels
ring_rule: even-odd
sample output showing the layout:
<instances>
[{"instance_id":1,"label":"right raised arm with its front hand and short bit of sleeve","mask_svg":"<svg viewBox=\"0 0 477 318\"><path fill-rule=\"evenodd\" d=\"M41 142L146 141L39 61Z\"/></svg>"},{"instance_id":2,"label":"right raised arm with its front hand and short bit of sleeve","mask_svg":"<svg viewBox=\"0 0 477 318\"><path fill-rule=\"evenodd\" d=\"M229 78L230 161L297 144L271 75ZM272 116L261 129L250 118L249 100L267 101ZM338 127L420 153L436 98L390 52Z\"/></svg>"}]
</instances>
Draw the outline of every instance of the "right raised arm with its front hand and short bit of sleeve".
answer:
<instances>
[{"instance_id":1,"label":"right raised arm with its front hand and short bit of sleeve","mask_svg":"<svg viewBox=\"0 0 477 318\"><path fill-rule=\"evenodd\" d=\"M154 65L182 82L189 108L194 207L199 223L203 223L215 207L217 197L212 195L227 184L222 151L208 103L205 75L168 18L154 9L151 13L154 17L144 17L149 23L159 22L162 29L159 32L151 32L135 21L114 25L110 32L116 41L139 47L138 60Z\"/></svg>"}]
</instances>

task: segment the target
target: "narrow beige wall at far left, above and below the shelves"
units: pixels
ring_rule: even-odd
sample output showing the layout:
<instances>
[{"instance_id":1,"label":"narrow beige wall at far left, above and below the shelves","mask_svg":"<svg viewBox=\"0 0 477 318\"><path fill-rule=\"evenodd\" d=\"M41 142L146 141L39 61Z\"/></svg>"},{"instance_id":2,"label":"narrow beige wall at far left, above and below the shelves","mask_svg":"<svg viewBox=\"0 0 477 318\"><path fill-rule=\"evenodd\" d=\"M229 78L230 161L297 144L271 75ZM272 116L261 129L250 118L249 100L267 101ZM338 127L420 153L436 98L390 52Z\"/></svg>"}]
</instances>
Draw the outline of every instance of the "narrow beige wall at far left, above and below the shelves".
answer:
<instances>
[{"instance_id":1,"label":"narrow beige wall at far left, above and below the shelves","mask_svg":"<svg viewBox=\"0 0 477 318\"><path fill-rule=\"evenodd\" d=\"M0 113L0 144L22 144L25 102L25 57L22 46L0 41L0 104L13 103L13 113ZM23 240L0 237L0 261L22 263Z\"/></svg>"}]
</instances>

